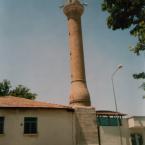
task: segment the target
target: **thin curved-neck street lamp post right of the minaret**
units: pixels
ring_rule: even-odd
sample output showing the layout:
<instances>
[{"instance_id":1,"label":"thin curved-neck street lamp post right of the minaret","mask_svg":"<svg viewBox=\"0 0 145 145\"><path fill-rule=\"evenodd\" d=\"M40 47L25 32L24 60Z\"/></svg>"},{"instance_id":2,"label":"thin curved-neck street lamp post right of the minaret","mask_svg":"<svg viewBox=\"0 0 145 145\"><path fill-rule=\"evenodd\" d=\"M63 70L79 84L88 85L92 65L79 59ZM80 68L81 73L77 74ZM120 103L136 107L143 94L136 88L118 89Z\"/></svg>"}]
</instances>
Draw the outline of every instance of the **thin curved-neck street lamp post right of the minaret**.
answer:
<instances>
[{"instance_id":1,"label":"thin curved-neck street lamp post right of the minaret","mask_svg":"<svg viewBox=\"0 0 145 145\"><path fill-rule=\"evenodd\" d=\"M115 88L114 88L114 76L118 72L118 70L120 70L122 67L123 67L123 65L121 65L121 64L118 65L116 70L113 72L113 74L111 76L112 88L113 88L113 96L114 96L114 103L115 103L115 111L116 112L118 112L118 106L117 106L117 100L116 100L116 94L115 94ZM119 129L119 134L120 134L120 144L123 145L122 132L121 132L121 128L120 128L119 118L117 118L117 124L118 124L118 129Z\"/></svg>"}]
</instances>

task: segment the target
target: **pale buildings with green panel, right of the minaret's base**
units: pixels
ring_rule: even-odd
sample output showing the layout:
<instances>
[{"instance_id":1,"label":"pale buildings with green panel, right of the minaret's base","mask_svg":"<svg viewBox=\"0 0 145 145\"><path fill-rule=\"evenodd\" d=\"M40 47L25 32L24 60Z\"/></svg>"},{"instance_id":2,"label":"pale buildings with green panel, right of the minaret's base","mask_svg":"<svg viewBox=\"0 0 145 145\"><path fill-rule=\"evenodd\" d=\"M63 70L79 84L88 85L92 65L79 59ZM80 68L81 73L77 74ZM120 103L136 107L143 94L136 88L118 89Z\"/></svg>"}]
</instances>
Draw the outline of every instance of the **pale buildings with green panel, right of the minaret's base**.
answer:
<instances>
[{"instance_id":1,"label":"pale buildings with green panel, right of the minaret's base","mask_svg":"<svg viewBox=\"0 0 145 145\"><path fill-rule=\"evenodd\" d=\"M99 145L145 145L145 117L97 111ZM118 125L119 124L119 125Z\"/></svg>"}]
</instances>

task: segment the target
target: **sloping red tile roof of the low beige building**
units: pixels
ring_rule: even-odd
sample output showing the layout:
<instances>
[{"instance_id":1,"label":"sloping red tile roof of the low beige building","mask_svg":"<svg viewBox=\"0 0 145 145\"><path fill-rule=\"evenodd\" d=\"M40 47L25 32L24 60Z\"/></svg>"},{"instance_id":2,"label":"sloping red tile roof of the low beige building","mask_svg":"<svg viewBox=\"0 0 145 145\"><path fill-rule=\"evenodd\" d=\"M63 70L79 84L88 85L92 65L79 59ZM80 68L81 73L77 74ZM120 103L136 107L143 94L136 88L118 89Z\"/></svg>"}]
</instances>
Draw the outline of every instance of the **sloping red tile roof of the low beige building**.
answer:
<instances>
[{"instance_id":1,"label":"sloping red tile roof of the low beige building","mask_svg":"<svg viewBox=\"0 0 145 145\"><path fill-rule=\"evenodd\" d=\"M5 96L0 97L0 108L56 108L56 109L72 109L69 106L39 102L30 99ZM73 109L72 109L73 110Z\"/></svg>"}]
</instances>

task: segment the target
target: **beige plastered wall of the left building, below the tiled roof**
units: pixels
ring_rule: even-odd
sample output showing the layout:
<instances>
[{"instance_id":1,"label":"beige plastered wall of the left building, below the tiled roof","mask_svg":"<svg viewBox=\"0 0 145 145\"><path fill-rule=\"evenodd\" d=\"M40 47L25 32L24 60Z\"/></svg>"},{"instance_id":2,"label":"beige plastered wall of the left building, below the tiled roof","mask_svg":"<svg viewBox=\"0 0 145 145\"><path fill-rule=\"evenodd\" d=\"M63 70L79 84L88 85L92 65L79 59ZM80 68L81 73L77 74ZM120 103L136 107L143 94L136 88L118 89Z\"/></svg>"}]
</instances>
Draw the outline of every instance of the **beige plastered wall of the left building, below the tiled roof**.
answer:
<instances>
[{"instance_id":1,"label":"beige plastered wall of the left building, below the tiled roof","mask_svg":"<svg viewBox=\"0 0 145 145\"><path fill-rule=\"evenodd\" d=\"M0 109L5 117L0 145L75 145L73 112L63 109ZM24 134L24 117L38 118L38 133Z\"/></svg>"}]
</instances>

